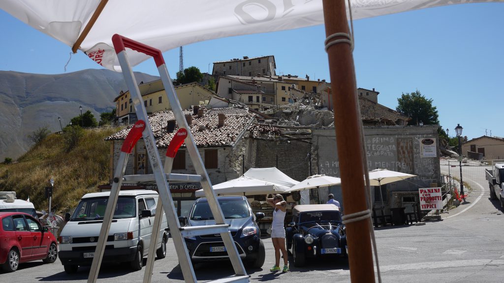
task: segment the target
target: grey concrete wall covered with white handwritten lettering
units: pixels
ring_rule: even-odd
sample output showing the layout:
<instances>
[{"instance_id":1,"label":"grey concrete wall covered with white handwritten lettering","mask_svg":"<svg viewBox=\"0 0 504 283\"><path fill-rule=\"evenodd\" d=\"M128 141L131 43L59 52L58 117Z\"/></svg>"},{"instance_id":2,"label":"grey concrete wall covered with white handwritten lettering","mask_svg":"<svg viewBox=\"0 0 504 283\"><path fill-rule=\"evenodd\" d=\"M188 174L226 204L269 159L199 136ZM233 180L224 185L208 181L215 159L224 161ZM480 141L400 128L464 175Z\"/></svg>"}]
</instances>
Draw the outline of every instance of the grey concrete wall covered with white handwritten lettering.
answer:
<instances>
[{"instance_id":1,"label":"grey concrete wall covered with white handwritten lettering","mask_svg":"<svg viewBox=\"0 0 504 283\"><path fill-rule=\"evenodd\" d=\"M371 171L385 168L393 171L417 175L408 180L382 186L386 194L386 206L391 206L392 192L414 191L430 187L431 183L440 185L439 139L437 126L383 126L364 127L367 167ZM433 138L436 142L436 157L423 157L420 141ZM336 134L334 128L312 130L313 164L319 174L340 177ZM360 162L356 160L355 162ZM327 201L327 194L332 192L337 200L342 199L341 187L321 188L321 198ZM374 189L371 189L374 199ZM418 195L416 193L416 195ZM392 206L394 207L394 206Z\"/></svg>"}]
</instances>

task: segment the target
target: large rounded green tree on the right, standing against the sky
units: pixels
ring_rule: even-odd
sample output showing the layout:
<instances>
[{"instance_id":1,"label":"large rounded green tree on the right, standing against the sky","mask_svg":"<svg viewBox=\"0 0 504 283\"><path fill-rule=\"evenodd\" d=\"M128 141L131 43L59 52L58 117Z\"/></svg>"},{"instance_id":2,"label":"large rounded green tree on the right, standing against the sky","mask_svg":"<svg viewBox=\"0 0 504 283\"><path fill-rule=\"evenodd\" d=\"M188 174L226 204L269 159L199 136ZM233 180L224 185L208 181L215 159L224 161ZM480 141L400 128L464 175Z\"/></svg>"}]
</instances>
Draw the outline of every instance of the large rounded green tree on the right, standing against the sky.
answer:
<instances>
[{"instance_id":1,"label":"large rounded green tree on the right, standing against the sky","mask_svg":"<svg viewBox=\"0 0 504 283\"><path fill-rule=\"evenodd\" d=\"M408 125L439 125L437 110L432 106L432 99L426 99L418 90L412 93L403 93L397 99L397 112L411 118Z\"/></svg>"}]
</instances>

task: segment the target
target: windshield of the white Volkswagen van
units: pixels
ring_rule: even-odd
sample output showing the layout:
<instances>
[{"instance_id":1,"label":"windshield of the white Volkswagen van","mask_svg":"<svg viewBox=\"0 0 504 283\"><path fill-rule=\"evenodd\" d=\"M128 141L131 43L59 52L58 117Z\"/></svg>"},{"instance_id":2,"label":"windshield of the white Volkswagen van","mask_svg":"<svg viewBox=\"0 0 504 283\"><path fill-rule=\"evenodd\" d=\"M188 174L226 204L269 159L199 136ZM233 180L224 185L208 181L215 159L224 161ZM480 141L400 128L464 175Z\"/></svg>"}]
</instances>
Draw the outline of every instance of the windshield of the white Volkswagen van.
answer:
<instances>
[{"instance_id":1,"label":"windshield of the white Volkswagen van","mask_svg":"<svg viewBox=\"0 0 504 283\"><path fill-rule=\"evenodd\" d=\"M70 221L103 220L105 208L107 207L108 196L86 198L79 202L77 209ZM137 211L134 197L117 198L117 204L114 208L114 218L132 218Z\"/></svg>"}]
</instances>

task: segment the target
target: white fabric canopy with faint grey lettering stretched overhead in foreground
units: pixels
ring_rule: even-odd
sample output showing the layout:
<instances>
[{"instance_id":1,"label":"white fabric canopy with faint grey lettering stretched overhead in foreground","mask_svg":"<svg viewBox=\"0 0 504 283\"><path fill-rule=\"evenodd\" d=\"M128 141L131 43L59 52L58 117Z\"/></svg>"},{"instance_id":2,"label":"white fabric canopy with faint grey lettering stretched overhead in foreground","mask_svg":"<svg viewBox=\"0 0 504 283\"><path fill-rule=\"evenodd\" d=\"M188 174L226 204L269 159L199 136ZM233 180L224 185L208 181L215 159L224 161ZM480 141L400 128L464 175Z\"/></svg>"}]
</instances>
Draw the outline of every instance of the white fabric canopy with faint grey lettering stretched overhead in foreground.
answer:
<instances>
[{"instance_id":1,"label":"white fabric canopy with faint grey lettering stretched overhead in foreground","mask_svg":"<svg viewBox=\"0 0 504 283\"><path fill-rule=\"evenodd\" d=\"M351 0L354 20L458 3L504 0ZM0 9L73 46L100 0L3 0ZM348 12L348 9L347 9ZM109 0L79 49L120 72L112 35L134 39L162 52L195 42L288 30L324 23L322 0ZM34 43L35 44L35 43ZM132 66L149 57L127 49Z\"/></svg>"}]
</instances>

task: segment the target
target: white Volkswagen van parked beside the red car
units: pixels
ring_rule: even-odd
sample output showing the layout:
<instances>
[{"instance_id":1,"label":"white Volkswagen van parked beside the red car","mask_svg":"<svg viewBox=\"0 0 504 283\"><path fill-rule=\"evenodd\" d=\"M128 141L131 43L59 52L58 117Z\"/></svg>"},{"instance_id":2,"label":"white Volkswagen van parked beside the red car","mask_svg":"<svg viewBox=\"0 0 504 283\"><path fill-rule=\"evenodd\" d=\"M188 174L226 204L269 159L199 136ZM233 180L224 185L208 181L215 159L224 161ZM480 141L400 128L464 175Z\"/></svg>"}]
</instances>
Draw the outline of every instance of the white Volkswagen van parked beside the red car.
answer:
<instances>
[{"instance_id":1,"label":"white Volkswagen van parked beside the red car","mask_svg":"<svg viewBox=\"0 0 504 283\"><path fill-rule=\"evenodd\" d=\"M110 192L85 194L74 214L65 215L67 224L59 234L59 260L67 273L79 265L91 265ZM149 251L158 193L152 190L119 191L114 217L105 244L102 262L128 262L134 270L142 269L142 259ZM156 256L166 256L168 224L163 215L156 242Z\"/></svg>"}]
</instances>

